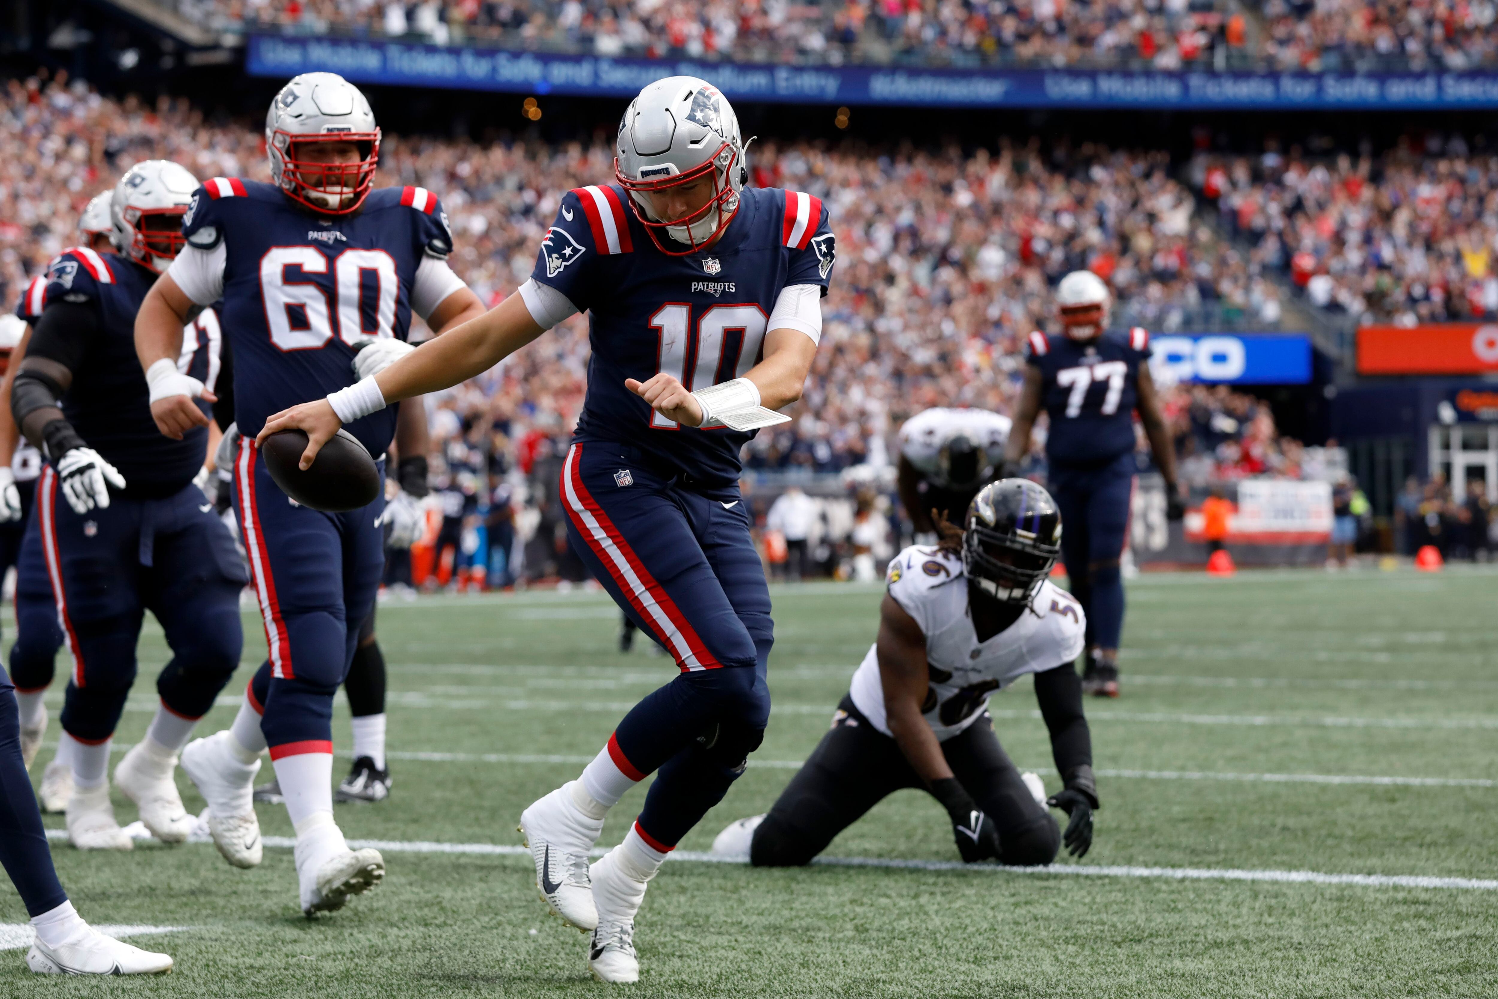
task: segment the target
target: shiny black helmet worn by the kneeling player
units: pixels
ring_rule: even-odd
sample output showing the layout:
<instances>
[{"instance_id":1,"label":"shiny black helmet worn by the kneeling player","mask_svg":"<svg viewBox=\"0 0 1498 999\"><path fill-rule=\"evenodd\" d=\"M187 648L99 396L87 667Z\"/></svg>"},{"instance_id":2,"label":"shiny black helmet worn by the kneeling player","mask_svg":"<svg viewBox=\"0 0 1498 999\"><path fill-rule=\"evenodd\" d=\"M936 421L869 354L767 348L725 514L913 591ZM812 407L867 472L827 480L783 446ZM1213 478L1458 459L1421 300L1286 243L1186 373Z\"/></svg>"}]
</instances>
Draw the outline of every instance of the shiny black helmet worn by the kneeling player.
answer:
<instances>
[{"instance_id":1,"label":"shiny black helmet worn by the kneeling player","mask_svg":"<svg viewBox=\"0 0 1498 999\"><path fill-rule=\"evenodd\" d=\"M1005 604L1029 604L1061 556L1061 511L1029 479L999 479L968 506L962 566L969 580Z\"/></svg>"}]
</instances>

